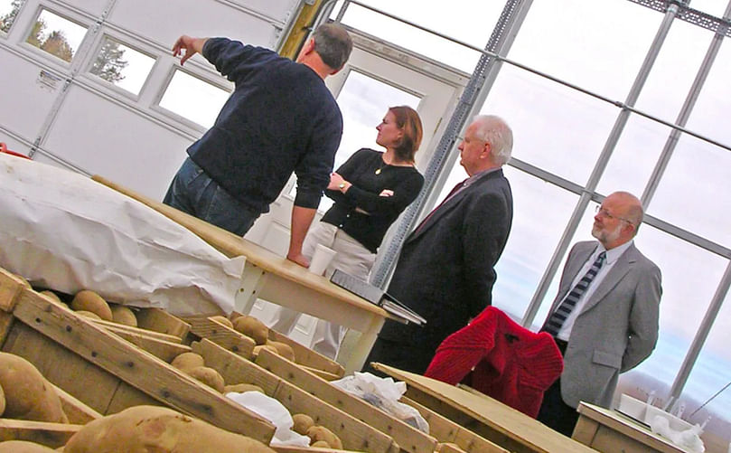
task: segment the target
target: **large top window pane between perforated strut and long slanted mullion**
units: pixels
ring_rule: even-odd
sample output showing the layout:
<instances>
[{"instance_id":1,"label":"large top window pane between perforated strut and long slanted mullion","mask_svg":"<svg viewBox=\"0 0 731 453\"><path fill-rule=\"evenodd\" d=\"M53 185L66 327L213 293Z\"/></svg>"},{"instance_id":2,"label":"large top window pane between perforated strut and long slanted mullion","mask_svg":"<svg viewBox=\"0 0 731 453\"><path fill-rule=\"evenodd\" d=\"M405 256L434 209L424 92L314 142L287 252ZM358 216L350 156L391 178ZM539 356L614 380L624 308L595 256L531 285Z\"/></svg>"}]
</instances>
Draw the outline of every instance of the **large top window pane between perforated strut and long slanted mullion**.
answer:
<instances>
[{"instance_id":1,"label":"large top window pane between perforated strut and long slanted mullion","mask_svg":"<svg viewBox=\"0 0 731 453\"><path fill-rule=\"evenodd\" d=\"M624 99L662 14L626 0L533 2L508 55L612 99Z\"/></svg>"}]
</instances>

